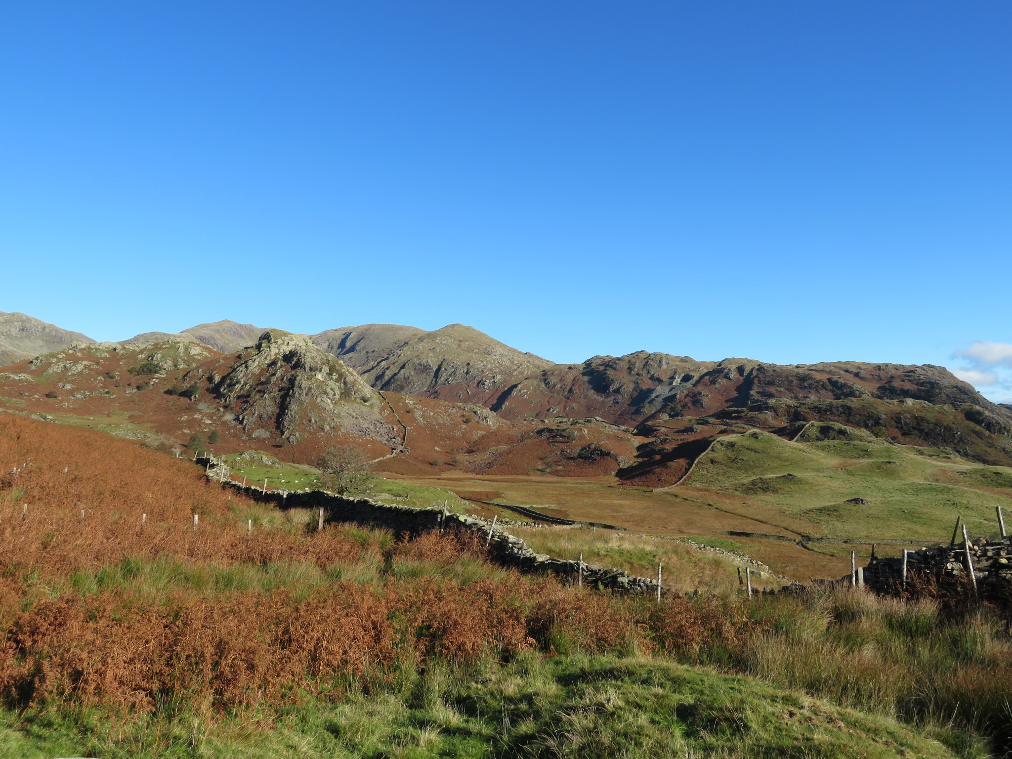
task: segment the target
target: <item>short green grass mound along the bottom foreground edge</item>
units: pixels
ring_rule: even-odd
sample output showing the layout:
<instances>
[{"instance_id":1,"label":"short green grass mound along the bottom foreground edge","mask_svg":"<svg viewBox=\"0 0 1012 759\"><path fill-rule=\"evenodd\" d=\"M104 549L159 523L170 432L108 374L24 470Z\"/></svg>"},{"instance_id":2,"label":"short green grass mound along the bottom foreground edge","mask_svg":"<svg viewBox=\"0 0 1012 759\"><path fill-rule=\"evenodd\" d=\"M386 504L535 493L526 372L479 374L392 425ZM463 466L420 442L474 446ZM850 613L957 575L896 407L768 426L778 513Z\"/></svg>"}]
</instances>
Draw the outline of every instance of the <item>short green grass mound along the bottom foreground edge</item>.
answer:
<instances>
[{"instance_id":1,"label":"short green grass mound along the bottom foreground edge","mask_svg":"<svg viewBox=\"0 0 1012 759\"><path fill-rule=\"evenodd\" d=\"M98 709L3 711L0 757L955 756L889 718L638 657L523 654L467 667L434 661L382 689L359 685L339 703L306 699L273 720L253 713L221 721L168 709L118 719Z\"/></svg>"}]
</instances>

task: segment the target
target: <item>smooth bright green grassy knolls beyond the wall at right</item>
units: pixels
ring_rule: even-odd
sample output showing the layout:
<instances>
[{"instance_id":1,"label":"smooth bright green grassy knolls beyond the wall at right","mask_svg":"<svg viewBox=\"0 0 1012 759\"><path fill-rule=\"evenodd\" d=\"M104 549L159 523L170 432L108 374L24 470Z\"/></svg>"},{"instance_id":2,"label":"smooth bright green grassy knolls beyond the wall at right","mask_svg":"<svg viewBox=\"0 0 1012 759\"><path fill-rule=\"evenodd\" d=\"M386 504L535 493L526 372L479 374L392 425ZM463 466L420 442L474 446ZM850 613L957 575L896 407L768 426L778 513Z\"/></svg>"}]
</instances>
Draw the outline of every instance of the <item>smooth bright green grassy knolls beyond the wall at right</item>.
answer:
<instances>
[{"instance_id":1,"label":"smooth bright green grassy knolls beyond the wall at right","mask_svg":"<svg viewBox=\"0 0 1012 759\"><path fill-rule=\"evenodd\" d=\"M836 537L948 539L957 513L977 535L996 535L1012 469L981 467L931 451L863 439L788 442L751 431L716 441L688 485L740 494ZM867 504L848 503L864 499ZM817 532L818 533L818 532Z\"/></svg>"}]
</instances>

